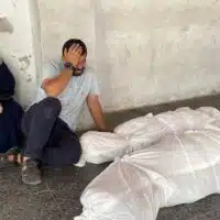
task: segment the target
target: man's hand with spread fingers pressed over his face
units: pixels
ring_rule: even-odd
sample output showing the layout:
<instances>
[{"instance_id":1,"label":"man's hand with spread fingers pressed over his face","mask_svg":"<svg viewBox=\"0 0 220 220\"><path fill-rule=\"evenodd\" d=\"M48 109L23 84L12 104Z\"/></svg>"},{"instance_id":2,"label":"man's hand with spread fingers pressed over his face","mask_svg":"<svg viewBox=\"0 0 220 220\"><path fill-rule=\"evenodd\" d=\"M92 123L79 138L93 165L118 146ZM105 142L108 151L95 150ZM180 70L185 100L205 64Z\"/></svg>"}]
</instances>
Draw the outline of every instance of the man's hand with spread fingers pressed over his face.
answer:
<instances>
[{"instance_id":1,"label":"man's hand with spread fingers pressed over his face","mask_svg":"<svg viewBox=\"0 0 220 220\"><path fill-rule=\"evenodd\" d=\"M65 62L70 63L76 68L79 64L81 53L81 47L78 44L73 44L68 51L64 51Z\"/></svg>"}]
</instances>

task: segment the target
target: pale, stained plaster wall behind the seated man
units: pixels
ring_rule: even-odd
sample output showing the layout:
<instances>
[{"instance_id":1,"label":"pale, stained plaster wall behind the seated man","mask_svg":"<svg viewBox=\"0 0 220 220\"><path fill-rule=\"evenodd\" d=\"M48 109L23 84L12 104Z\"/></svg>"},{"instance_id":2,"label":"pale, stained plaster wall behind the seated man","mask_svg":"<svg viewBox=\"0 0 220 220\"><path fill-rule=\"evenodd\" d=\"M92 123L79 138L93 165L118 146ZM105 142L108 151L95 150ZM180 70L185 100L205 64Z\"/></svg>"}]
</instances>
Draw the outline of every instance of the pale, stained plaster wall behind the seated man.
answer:
<instances>
[{"instance_id":1,"label":"pale, stained plaster wall behind the seated man","mask_svg":"<svg viewBox=\"0 0 220 220\"><path fill-rule=\"evenodd\" d=\"M69 37L87 43L107 111L220 91L220 1L37 0L41 40L35 1L11 1L14 30L0 44L23 103L41 75L41 46L44 62L58 59ZM84 113L80 127L90 121Z\"/></svg>"}]
</instances>

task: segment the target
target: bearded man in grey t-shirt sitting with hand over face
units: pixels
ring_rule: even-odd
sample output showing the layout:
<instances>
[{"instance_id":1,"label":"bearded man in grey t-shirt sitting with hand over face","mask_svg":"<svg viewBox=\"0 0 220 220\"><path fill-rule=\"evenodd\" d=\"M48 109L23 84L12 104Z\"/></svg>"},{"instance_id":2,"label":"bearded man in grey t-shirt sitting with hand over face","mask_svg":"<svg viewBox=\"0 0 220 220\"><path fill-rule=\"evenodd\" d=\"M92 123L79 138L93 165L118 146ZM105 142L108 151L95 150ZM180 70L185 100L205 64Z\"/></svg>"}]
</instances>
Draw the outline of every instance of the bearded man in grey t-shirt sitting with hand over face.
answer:
<instances>
[{"instance_id":1,"label":"bearded man in grey t-shirt sitting with hand over face","mask_svg":"<svg viewBox=\"0 0 220 220\"><path fill-rule=\"evenodd\" d=\"M42 165L62 167L79 162L81 146L75 130L85 102L98 130L107 131L96 75L87 68L86 58L85 43L72 38L63 46L62 61L43 68L37 98L22 121L26 141L19 162L24 184L42 182Z\"/></svg>"}]
</instances>

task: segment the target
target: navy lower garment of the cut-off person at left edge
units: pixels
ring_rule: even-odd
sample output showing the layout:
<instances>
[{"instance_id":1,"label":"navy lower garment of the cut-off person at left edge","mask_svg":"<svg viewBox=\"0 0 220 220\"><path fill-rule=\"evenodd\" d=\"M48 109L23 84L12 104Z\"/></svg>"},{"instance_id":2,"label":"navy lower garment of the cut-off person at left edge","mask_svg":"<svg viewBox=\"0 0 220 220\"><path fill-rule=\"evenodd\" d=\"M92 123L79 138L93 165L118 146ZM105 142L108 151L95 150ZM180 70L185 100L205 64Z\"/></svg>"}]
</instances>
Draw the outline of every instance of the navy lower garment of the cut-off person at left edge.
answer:
<instances>
[{"instance_id":1,"label":"navy lower garment of the cut-off person at left edge","mask_svg":"<svg viewBox=\"0 0 220 220\"><path fill-rule=\"evenodd\" d=\"M13 99L0 101L3 112L0 113L0 153L22 145L21 120L23 110Z\"/></svg>"}]
</instances>

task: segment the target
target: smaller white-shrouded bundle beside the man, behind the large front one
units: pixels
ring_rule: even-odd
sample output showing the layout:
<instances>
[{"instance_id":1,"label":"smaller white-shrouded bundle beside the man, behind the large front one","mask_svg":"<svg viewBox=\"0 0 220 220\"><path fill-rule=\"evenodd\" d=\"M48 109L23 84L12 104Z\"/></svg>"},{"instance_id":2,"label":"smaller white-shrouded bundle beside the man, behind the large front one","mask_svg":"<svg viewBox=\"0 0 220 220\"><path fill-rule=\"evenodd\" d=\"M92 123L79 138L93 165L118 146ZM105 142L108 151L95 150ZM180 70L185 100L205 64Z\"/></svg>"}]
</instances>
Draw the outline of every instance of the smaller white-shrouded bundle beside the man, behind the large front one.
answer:
<instances>
[{"instance_id":1,"label":"smaller white-shrouded bundle beside the man, behind the large front one","mask_svg":"<svg viewBox=\"0 0 220 220\"><path fill-rule=\"evenodd\" d=\"M157 116L150 113L132 119L117 127L114 133L88 132L80 138L82 165L85 162L110 162L124 154L146 148L166 134L206 128L218 113L219 111L211 107L198 110L186 107Z\"/></svg>"}]
</instances>

